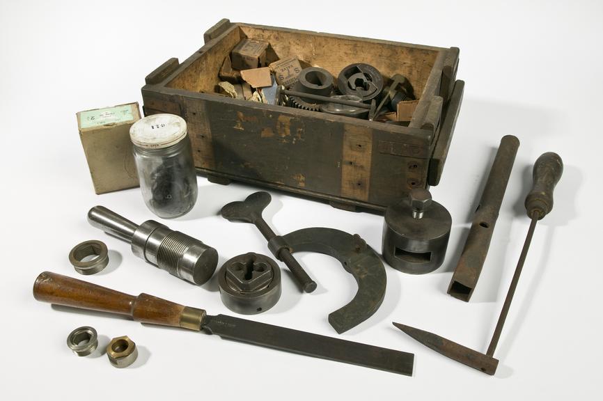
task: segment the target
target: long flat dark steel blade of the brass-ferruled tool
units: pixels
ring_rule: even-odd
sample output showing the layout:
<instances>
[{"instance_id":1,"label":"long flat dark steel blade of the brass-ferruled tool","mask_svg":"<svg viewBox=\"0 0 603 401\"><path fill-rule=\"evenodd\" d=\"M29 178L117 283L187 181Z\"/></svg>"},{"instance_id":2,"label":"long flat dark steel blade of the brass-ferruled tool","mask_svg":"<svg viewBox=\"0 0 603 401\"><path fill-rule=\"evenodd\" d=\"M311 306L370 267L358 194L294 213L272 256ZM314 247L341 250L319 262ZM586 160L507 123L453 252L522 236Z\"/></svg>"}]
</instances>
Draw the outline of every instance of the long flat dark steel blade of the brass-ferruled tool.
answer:
<instances>
[{"instance_id":1,"label":"long flat dark steel blade of the brass-ferruled tool","mask_svg":"<svg viewBox=\"0 0 603 401\"><path fill-rule=\"evenodd\" d=\"M414 354L272 326L228 315L205 316L201 329L222 338L412 376Z\"/></svg>"}]
</instances>

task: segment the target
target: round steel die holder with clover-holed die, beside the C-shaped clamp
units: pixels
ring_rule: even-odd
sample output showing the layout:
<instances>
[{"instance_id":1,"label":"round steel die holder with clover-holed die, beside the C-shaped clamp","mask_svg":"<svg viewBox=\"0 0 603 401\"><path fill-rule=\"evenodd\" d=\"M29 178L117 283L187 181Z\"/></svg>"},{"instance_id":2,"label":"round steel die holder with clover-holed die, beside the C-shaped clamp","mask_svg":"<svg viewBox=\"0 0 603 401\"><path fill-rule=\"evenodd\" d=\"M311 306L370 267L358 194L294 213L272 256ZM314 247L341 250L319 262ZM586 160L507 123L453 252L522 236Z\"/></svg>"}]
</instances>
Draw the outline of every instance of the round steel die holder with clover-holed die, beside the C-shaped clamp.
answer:
<instances>
[{"instance_id":1,"label":"round steel die holder with clover-holed die, beside the C-shaped clamp","mask_svg":"<svg viewBox=\"0 0 603 401\"><path fill-rule=\"evenodd\" d=\"M226 308L255 315L281 297L281 270L265 255L245 253L228 260L218 272L220 297Z\"/></svg>"}]
</instances>

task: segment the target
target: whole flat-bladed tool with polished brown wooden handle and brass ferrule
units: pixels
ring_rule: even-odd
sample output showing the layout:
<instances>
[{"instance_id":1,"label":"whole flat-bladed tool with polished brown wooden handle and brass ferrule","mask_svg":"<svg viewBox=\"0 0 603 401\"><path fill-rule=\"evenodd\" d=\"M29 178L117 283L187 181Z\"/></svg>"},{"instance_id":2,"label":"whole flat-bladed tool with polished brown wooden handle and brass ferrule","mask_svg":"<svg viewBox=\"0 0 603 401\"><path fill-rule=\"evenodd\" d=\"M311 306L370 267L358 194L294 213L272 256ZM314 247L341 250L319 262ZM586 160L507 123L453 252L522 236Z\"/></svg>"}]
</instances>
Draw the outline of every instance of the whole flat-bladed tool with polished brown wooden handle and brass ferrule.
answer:
<instances>
[{"instance_id":1,"label":"whole flat-bladed tool with polished brown wooden handle and brass ferrule","mask_svg":"<svg viewBox=\"0 0 603 401\"><path fill-rule=\"evenodd\" d=\"M205 331L281 351L412 375L414 354L228 315L210 316L203 309L175 304L149 294L135 297L61 274L40 274L33 284L33 297L52 304L126 315L136 322Z\"/></svg>"}]
</instances>

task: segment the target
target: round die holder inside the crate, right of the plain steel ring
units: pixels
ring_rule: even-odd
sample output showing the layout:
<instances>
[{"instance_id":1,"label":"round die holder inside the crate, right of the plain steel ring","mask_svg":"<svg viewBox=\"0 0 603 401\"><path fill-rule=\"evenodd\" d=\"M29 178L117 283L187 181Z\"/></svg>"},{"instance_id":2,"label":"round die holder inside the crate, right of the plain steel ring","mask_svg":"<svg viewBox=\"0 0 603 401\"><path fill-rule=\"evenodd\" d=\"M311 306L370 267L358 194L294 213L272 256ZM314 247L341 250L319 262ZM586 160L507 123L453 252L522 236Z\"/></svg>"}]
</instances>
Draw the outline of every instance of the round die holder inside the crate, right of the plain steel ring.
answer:
<instances>
[{"instance_id":1,"label":"round die holder inside the crate, right of the plain steel ring","mask_svg":"<svg viewBox=\"0 0 603 401\"><path fill-rule=\"evenodd\" d=\"M381 72L365 63L350 64L337 77L337 88L342 95L356 95L365 103L379 97L383 85Z\"/></svg>"}]
</instances>

